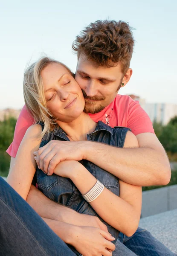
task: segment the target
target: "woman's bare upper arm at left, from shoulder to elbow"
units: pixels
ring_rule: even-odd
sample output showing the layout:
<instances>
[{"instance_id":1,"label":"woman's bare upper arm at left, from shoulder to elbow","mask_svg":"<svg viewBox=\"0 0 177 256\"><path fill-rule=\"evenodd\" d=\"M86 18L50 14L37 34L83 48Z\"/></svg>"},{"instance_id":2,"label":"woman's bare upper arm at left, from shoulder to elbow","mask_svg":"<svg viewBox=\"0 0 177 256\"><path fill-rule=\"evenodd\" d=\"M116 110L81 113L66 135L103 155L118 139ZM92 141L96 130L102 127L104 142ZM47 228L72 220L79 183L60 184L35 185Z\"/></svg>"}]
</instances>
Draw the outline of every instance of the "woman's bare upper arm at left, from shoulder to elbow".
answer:
<instances>
[{"instance_id":1,"label":"woman's bare upper arm at left, from shoulder to elbow","mask_svg":"<svg viewBox=\"0 0 177 256\"><path fill-rule=\"evenodd\" d=\"M9 185L24 200L26 200L36 170L33 151L39 149L41 139L38 136L41 131L41 125L32 125L28 128L7 177Z\"/></svg>"}]
</instances>

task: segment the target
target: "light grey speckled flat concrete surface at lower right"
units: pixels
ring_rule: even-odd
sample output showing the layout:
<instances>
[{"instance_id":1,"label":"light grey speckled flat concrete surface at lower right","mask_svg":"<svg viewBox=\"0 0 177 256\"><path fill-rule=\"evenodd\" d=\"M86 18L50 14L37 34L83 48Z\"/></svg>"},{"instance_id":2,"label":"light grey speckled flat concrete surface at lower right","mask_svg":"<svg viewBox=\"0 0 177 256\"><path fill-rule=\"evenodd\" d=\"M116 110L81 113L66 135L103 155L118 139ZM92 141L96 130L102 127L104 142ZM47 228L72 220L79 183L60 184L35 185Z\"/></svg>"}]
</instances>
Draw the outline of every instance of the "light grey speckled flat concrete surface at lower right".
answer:
<instances>
[{"instance_id":1,"label":"light grey speckled flat concrete surface at lower right","mask_svg":"<svg viewBox=\"0 0 177 256\"><path fill-rule=\"evenodd\" d=\"M151 232L162 244L177 253L177 209L142 218L139 227Z\"/></svg>"}]
</instances>

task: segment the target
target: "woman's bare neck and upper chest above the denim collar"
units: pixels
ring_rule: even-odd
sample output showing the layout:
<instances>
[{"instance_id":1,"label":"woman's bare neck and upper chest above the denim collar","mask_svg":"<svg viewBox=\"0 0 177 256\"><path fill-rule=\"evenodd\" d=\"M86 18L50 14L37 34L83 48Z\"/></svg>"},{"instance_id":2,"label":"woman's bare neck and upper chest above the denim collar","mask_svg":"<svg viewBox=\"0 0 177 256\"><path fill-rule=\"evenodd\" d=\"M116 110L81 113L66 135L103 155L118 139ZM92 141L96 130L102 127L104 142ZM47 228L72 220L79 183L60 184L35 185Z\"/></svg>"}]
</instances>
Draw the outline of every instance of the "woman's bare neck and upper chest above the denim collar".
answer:
<instances>
[{"instance_id":1,"label":"woman's bare neck and upper chest above the denim collar","mask_svg":"<svg viewBox=\"0 0 177 256\"><path fill-rule=\"evenodd\" d=\"M97 123L94 122L86 113L81 115L70 123L57 121L58 125L67 134L70 140L87 140L87 134L93 132Z\"/></svg>"}]
</instances>

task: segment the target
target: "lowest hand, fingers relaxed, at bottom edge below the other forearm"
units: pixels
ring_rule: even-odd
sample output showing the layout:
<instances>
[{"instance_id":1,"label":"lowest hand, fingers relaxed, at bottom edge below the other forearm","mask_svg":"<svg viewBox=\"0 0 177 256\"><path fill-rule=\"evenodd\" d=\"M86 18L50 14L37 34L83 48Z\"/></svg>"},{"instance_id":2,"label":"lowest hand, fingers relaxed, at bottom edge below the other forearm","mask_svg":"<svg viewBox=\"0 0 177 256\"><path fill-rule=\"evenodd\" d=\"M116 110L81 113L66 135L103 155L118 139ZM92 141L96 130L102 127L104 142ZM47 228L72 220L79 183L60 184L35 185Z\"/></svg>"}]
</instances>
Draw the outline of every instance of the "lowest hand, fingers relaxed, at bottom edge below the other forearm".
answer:
<instances>
[{"instance_id":1,"label":"lowest hand, fingers relaxed, at bottom edge below the other forearm","mask_svg":"<svg viewBox=\"0 0 177 256\"><path fill-rule=\"evenodd\" d=\"M70 242L83 256L112 256L115 240L109 233L95 227L76 227Z\"/></svg>"}]
</instances>

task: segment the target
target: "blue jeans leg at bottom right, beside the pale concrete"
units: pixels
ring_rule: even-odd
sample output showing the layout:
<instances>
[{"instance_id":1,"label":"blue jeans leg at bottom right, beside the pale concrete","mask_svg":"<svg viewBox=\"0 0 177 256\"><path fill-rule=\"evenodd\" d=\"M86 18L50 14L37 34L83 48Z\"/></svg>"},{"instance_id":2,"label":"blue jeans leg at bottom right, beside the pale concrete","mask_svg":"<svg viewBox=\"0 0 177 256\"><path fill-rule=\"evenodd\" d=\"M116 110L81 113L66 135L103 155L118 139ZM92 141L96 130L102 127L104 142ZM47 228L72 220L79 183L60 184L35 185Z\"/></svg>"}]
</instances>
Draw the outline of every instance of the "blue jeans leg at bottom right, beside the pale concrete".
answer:
<instances>
[{"instance_id":1,"label":"blue jeans leg at bottom right, beside the pale concrete","mask_svg":"<svg viewBox=\"0 0 177 256\"><path fill-rule=\"evenodd\" d=\"M158 241L150 232L140 227L133 236L119 234L116 250L113 256L174 256L164 244Z\"/></svg>"}]
</instances>

